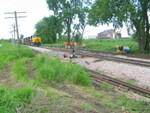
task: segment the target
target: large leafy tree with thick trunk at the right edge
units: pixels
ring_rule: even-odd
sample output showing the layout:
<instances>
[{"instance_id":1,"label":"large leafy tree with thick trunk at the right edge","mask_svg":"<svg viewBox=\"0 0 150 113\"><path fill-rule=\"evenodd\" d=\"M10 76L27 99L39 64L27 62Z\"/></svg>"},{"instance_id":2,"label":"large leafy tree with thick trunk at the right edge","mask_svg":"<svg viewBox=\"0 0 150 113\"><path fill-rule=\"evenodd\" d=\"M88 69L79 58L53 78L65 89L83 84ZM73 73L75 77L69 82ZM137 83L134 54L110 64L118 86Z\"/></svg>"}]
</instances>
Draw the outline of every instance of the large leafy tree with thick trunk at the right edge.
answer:
<instances>
[{"instance_id":1,"label":"large leafy tree with thick trunk at the right edge","mask_svg":"<svg viewBox=\"0 0 150 113\"><path fill-rule=\"evenodd\" d=\"M135 32L139 49L149 51L149 11L150 0L95 0L89 14L89 23L113 23L115 27L122 27L126 23Z\"/></svg>"}]
</instances>

